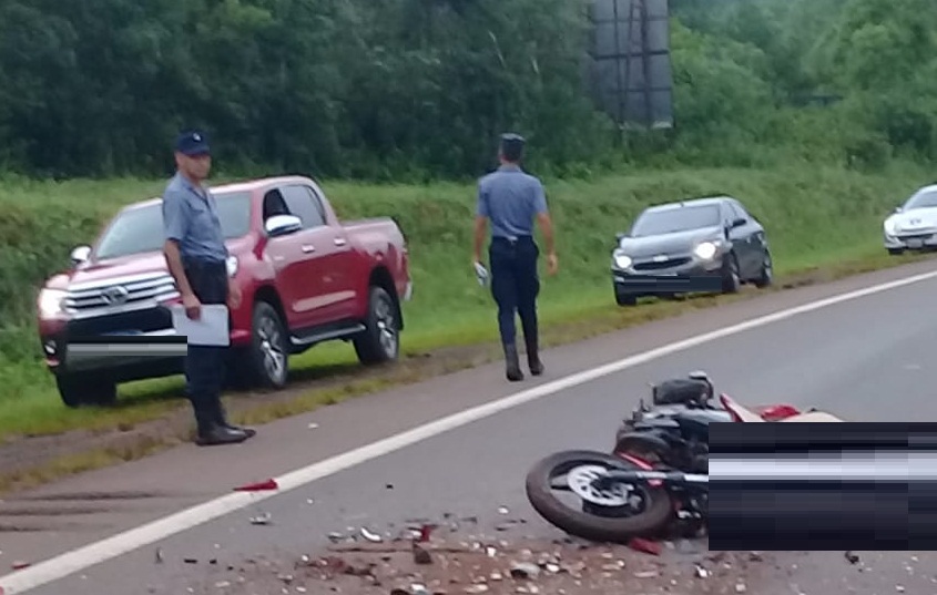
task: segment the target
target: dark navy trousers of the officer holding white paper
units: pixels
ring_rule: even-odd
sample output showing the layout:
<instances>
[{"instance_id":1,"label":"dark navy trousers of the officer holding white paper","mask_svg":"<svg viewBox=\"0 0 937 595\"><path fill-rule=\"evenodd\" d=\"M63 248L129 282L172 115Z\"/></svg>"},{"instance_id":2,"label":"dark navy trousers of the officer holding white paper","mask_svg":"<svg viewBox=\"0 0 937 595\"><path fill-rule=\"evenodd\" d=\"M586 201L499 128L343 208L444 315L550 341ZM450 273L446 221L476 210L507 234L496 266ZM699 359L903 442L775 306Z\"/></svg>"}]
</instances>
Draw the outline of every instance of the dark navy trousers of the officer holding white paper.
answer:
<instances>
[{"instance_id":1,"label":"dark navy trousers of the officer holding white paper","mask_svg":"<svg viewBox=\"0 0 937 595\"><path fill-rule=\"evenodd\" d=\"M183 259L185 277L202 304L227 302L227 267L213 260ZM185 357L185 383L198 432L225 423L221 392L225 378L226 347L190 345Z\"/></svg>"}]
</instances>

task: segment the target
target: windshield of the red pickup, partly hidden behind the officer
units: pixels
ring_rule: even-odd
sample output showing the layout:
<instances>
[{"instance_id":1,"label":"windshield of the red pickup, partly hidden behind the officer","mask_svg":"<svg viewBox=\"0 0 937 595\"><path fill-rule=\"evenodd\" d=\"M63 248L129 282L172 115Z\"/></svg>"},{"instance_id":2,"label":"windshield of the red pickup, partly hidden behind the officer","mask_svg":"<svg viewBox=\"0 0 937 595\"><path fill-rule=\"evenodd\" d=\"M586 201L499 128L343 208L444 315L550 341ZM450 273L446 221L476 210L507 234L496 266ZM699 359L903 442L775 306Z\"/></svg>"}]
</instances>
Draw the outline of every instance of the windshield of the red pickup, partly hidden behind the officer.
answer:
<instances>
[{"instance_id":1,"label":"windshield of the red pickup, partly hidden behind the officer","mask_svg":"<svg viewBox=\"0 0 937 595\"><path fill-rule=\"evenodd\" d=\"M242 237L251 229L251 193L215 194L218 219L225 239ZM132 208L118 215L104 232L94 258L120 258L163 249L162 203Z\"/></svg>"}]
</instances>

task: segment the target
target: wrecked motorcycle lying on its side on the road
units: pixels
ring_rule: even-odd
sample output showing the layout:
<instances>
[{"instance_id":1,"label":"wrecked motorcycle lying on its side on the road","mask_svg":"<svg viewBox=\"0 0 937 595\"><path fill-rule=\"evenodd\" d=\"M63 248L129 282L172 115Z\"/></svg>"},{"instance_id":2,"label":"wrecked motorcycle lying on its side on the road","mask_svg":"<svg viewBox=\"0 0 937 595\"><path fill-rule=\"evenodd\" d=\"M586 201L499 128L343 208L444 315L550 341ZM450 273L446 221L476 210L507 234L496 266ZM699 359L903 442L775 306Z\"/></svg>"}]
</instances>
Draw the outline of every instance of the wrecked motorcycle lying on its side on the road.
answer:
<instances>
[{"instance_id":1,"label":"wrecked motorcycle lying on its side on the road","mask_svg":"<svg viewBox=\"0 0 937 595\"><path fill-rule=\"evenodd\" d=\"M689 383L681 379L662 386L654 388L652 407L642 401L622 425L613 453L564 451L533 465L526 479L527 497L543 519L597 542L653 536L679 520L704 525L710 422L842 421L787 404L755 412L725 394L719 407L703 372L691 375ZM567 504L553 490L571 492L578 505Z\"/></svg>"}]
</instances>

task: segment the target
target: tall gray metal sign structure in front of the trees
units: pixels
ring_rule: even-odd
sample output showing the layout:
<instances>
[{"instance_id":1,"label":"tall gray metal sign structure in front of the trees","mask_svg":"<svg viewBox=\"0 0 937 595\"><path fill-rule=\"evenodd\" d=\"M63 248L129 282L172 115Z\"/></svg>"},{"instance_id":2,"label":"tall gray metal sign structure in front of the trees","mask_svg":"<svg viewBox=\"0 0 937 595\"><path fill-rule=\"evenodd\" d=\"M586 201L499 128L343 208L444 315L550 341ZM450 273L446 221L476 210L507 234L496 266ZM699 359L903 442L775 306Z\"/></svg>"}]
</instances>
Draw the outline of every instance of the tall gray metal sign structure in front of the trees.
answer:
<instances>
[{"instance_id":1,"label":"tall gray metal sign structure in front of the trees","mask_svg":"<svg viewBox=\"0 0 937 595\"><path fill-rule=\"evenodd\" d=\"M673 127L668 0L591 0L593 100L622 130Z\"/></svg>"}]
</instances>

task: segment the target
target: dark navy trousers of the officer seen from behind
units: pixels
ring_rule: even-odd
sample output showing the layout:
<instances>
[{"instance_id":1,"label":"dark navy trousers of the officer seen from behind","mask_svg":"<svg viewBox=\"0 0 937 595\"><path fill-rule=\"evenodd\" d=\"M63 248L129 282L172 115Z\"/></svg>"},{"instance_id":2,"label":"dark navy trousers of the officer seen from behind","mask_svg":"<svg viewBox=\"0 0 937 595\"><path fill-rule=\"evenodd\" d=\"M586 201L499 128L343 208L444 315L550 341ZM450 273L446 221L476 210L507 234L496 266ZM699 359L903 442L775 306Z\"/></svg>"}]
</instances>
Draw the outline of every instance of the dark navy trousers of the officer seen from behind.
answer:
<instances>
[{"instance_id":1,"label":"dark navy trousers of the officer seen from behind","mask_svg":"<svg viewBox=\"0 0 937 595\"><path fill-rule=\"evenodd\" d=\"M501 342L515 345L517 328L515 312L520 316L528 346L538 343L537 296L540 278L537 258L540 249L532 236L517 239L491 238L488 263L491 266L491 295L498 304L498 329Z\"/></svg>"}]
</instances>

